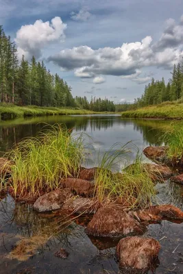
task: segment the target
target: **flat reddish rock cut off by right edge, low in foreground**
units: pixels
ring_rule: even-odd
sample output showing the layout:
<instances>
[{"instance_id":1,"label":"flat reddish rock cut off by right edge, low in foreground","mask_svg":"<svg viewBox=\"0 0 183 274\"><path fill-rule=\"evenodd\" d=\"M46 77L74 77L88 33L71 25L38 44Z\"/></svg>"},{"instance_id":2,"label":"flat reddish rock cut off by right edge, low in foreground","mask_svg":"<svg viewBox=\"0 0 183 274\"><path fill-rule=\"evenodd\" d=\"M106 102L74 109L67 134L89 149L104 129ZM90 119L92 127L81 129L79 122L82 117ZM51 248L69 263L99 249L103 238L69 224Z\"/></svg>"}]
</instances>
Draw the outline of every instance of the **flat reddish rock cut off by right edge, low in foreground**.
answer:
<instances>
[{"instance_id":1,"label":"flat reddish rock cut off by right edge, low in foreground","mask_svg":"<svg viewBox=\"0 0 183 274\"><path fill-rule=\"evenodd\" d=\"M172 205L151 206L145 210L136 211L141 221L183 220L183 212Z\"/></svg>"}]
</instances>

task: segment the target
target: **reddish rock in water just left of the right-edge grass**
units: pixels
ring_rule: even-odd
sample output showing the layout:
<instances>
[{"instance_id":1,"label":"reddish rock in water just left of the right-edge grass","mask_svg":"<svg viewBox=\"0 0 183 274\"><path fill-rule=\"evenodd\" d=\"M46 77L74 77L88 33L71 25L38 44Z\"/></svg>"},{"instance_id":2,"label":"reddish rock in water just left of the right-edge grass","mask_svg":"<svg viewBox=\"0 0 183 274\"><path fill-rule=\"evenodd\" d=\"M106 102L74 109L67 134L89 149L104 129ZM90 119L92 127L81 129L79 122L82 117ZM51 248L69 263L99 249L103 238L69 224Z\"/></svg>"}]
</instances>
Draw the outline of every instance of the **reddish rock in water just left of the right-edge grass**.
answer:
<instances>
[{"instance_id":1,"label":"reddish rock in water just left of the right-edge grass","mask_svg":"<svg viewBox=\"0 0 183 274\"><path fill-rule=\"evenodd\" d=\"M166 162L168 147L146 147L144 155L154 162Z\"/></svg>"}]
</instances>

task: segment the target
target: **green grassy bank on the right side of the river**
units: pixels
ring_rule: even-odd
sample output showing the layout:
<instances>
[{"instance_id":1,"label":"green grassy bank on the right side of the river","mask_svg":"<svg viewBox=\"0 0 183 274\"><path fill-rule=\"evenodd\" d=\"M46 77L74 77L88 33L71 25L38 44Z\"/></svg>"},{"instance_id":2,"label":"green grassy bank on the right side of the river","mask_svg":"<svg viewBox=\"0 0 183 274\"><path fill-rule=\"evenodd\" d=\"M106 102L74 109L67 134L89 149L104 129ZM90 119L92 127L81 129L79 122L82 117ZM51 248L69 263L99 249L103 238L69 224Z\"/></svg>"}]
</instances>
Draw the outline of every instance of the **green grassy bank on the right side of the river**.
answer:
<instances>
[{"instance_id":1,"label":"green grassy bank on the right side of the river","mask_svg":"<svg viewBox=\"0 0 183 274\"><path fill-rule=\"evenodd\" d=\"M122 112L126 118L183 119L183 103L164 102L138 110Z\"/></svg>"}]
</instances>

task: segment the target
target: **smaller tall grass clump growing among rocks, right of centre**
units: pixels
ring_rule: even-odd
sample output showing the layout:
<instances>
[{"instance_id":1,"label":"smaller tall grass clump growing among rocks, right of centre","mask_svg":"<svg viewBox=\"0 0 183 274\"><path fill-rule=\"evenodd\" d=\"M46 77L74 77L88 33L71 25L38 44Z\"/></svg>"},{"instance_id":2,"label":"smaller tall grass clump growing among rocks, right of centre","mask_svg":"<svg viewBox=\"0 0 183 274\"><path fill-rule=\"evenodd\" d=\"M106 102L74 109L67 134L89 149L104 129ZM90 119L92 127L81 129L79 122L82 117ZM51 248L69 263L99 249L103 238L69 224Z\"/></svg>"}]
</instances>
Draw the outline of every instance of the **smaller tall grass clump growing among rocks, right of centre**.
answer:
<instances>
[{"instance_id":1,"label":"smaller tall grass clump growing among rocks, right of centre","mask_svg":"<svg viewBox=\"0 0 183 274\"><path fill-rule=\"evenodd\" d=\"M95 175L95 195L100 202L119 201L130 208L147 206L156 195L156 190L152 174L149 174L139 153L134 162L123 169L122 173L110 171L114 164L121 160L121 154L125 157L126 153L126 146L123 146L114 154L111 153L111 149L104 154Z\"/></svg>"}]
</instances>

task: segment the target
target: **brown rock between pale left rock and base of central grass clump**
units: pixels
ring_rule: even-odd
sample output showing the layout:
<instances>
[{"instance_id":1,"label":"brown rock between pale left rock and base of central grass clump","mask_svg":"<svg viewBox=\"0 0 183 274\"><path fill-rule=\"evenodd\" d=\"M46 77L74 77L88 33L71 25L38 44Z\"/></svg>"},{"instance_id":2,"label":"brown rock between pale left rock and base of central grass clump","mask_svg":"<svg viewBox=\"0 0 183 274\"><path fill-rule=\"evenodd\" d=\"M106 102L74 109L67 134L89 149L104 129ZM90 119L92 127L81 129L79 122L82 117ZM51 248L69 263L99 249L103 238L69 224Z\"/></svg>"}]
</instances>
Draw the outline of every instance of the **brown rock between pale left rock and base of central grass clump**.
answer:
<instances>
[{"instance_id":1,"label":"brown rock between pale left rock and base of central grass clump","mask_svg":"<svg viewBox=\"0 0 183 274\"><path fill-rule=\"evenodd\" d=\"M75 198L64 203L63 210L76 214L94 214L99 208L99 203L91 198Z\"/></svg>"}]
</instances>

